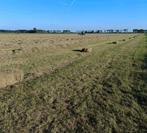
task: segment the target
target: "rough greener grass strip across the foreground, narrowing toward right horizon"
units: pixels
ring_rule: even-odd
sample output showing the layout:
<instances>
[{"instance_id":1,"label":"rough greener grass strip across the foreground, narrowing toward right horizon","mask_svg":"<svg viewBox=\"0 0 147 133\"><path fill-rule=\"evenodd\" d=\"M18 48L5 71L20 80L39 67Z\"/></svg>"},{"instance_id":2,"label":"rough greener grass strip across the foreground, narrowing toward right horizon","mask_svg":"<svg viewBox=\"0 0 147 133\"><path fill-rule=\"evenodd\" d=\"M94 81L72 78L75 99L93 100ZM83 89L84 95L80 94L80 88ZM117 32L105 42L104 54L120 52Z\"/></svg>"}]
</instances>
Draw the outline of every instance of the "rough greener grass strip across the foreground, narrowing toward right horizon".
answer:
<instances>
[{"instance_id":1,"label":"rough greener grass strip across the foreground, narrowing toward right horizon","mask_svg":"<svg viewBox=\"0 0 147 133\"><path fill-rule=\"evenodd\" d=\"M50 74L1 89L0 132L146 132L146 39L91 45Z\"/></svg>"}]
</instances>

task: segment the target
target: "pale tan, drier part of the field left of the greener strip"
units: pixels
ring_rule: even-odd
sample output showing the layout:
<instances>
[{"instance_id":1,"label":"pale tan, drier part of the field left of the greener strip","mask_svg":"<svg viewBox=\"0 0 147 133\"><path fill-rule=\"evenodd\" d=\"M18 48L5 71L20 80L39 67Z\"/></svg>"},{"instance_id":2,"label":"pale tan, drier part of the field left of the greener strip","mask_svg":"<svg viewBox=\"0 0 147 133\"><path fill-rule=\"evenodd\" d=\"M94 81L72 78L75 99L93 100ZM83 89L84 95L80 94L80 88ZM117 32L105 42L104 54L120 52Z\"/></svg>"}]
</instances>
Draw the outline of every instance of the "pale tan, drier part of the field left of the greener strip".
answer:
<instances>
[{"instance_id":1,"label":"pale tan, drier part of the field left of the greener strip","mask_svg":"<svg viewBox=\"0 0 147 133\"><path fill-rule=\"evenodd\" d=\"M0 36L0 88L38 77L64 66L83 54L74 49L93 47L132 37L123 35L30 35L1 34ZM8 74L9 72L9 74ZM16 73L17 72L17 73ZM16 78L20 75L20 79Z\"/></svg>"}]
</instances>

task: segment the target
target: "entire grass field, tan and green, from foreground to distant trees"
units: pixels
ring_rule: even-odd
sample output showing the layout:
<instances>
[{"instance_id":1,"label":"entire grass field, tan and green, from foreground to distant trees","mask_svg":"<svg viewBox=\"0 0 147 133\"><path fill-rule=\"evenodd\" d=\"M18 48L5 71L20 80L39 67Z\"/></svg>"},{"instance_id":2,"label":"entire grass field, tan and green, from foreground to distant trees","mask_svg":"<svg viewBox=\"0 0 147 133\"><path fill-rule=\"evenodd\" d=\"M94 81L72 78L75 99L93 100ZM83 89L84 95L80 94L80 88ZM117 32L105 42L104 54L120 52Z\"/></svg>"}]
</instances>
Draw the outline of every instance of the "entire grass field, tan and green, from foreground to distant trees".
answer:
<instances>
[{"instance_id":1,"label":"entire grass field, tan and green, from foreground to distant trees","mask_svg":"<svg viewBox=\"0 0 147 133\"><path fill-rule=\"evenodd\" d=\"M146 83L143 34L0 34L0 132L147 132Z\"/></svg>"}]
</instances>

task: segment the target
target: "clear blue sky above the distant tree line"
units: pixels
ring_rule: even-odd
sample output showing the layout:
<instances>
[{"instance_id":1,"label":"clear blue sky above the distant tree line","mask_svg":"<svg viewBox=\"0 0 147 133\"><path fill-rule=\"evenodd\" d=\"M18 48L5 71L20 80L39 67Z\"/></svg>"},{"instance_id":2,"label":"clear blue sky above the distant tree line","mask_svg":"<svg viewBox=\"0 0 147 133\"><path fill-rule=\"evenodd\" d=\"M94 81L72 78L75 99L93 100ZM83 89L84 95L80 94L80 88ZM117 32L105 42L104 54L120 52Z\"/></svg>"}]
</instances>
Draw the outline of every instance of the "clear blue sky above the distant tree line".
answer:
<instances>
[{"instance_id":1,"label":"clear blue sky above the distant tree line","mask_svg":"<svg viewBox=\"0 0 147 133\"><path fill-rule=\"evenodd\" d=\"M0 29L147 29L147 0L1 0Z\"/></svg>"}]
</instances>

